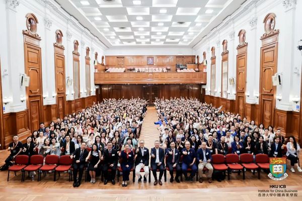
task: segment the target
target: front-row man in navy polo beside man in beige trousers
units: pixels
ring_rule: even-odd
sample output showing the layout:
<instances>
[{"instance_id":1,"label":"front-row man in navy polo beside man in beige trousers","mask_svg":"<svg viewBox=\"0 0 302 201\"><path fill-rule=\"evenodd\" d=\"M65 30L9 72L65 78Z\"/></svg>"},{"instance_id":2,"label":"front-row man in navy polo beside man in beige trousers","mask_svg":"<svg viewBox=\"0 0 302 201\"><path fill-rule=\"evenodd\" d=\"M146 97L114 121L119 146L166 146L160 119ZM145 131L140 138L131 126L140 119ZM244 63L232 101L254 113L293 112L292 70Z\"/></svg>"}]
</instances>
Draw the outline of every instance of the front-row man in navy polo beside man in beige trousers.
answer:
<instances>
[{"instance_id":1,"label":"front-row man in navy polo beside man in beige trousers","mask_svg":"<svg viewBox=\"0 0 302 201\"><path fill-rule=\"evenodd\" d=\"M182 150L183 159L181 169L185 176L186 182L193 182L193 177L197 172L197 166L195 164L196 161L196 153L195 150L190 148L191 144L189 141L185 142L185 148ZM188 177L187 171L188 168L191 168L191 175Z\"/></svg>"}]
</instances>

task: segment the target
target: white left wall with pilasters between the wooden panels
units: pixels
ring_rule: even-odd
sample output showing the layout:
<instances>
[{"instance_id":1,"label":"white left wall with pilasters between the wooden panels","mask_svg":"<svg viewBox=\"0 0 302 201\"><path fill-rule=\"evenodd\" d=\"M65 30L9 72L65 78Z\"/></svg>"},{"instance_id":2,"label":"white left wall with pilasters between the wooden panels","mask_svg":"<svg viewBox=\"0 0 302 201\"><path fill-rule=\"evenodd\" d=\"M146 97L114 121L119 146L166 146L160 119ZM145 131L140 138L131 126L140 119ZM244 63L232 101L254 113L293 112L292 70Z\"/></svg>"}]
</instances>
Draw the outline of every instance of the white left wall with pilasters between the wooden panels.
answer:
<instances>
[{"instance_id":1,"label":"white left wall with pilasters between the wooden panels","mask_svg":"<svg viewBox=\"0 0 302 201\"><path fill-rule=\"evenodd\" d=\"M11 3L19 2L19 5ZM60 29L63 33L63 45L65 47L65 76L73 79L72 51L73 41L80 43L80 88L86 89L85 81L85 56L86 47L90 47L91 58L91 89L94 85L94 54L98 52L99 60L106 47L87 29L79 24L77 20L63 11L53 0L21 0L6 1L0 0L0 17L3 19L0 26L0 57L1 70L8 70L8 76L2 77L3 97L12 98L12 102L5 106L5 113L19 112L26 109L26 102L21 103L20 96L25 94L25 87L20 86L20 74L25 72L24 67L24 40L22 30L26 30L25 16L33 13L38 21L37 33L41 37L41 62L42 62L42 85L43 94L48 98L43 99L43 105L56 103L56 97L52 97L55 92L55 71L54 71L54 47L55 31ZM71 95L72 86L66 87L67 100L73 99ZM93 91L92 95L95 94ZM81 94L85 97L86 94Z\"/></svg>"}]
</instances>

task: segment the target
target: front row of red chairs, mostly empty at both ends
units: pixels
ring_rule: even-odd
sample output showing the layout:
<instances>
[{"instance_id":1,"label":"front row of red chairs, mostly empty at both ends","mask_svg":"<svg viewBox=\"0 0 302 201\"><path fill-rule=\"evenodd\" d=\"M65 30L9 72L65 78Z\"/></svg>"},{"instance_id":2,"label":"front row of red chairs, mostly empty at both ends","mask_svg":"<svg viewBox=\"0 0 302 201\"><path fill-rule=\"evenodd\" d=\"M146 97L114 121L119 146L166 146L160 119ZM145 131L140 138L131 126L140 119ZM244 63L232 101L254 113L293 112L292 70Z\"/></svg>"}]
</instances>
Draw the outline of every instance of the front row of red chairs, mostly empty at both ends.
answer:
<instances>
[{"instance_id":1,"label":"front row of red chairs, mostly empty at both ends","mask_svg":"<svg viewBox=\"0 0 302 201\"><path fill-rule=\"evenodd\" d=\"M182 159L182 157L181 157ZM29 164L30 162L30 164ZM43 165L43 156L41 155L33 155L30 158L27 155L18 155L15 159L15 164L8 169L8 181L10 176L10 171L14 171L15 175L17 171L22 172L21 181L25 180L25 172L28 171L38 171L38 181L41 180L41 172L43 175L46 175L47 171L54 171L54 181L56 181L56 172L60 175L60 172L69 172L69 181L72 179L71 172L72 172L72 162L69 156L57 156L57 155L47 155L45 158L45 165ZM28 165L29 164L29 165ZM245 179L245 171L244 168L254 170L258 170L258 179L260 179L260 172L261 169L269 169L269 157L266 154L257 154L256 155L256 162L254 163L254 158L252 154L241 154L240 158L236 154L227 154L225 156L221 154L214 154L212 155L212 166L214 170L218 171L227 171L228 172L228 179L230 180L230 171L231 170L238 170L239 174L243 172L243 179ZM169 171L168 167L165 168L164 171L164 179L167 181L167 170ZM122 168L119 166L117 168L117 180L119 181L120 172L122 172ZM133 171L133 182L135 181L135 170L134 167L132 168ZM143 171L143 169L141 170ZM149 182L151 180L152 168L149 168ZM159 169L157 169L159 171ZM176 171L176 169L174 169ZM191 169L188 169L190 172ZM204 168L203 171L208 171L207 168ZM85 174L85 181L87 178L87 169ZM182 180L182 176L181 176ZM198 180L198 172L196 173L196 180Z\"/></svg>"}]
</instances>

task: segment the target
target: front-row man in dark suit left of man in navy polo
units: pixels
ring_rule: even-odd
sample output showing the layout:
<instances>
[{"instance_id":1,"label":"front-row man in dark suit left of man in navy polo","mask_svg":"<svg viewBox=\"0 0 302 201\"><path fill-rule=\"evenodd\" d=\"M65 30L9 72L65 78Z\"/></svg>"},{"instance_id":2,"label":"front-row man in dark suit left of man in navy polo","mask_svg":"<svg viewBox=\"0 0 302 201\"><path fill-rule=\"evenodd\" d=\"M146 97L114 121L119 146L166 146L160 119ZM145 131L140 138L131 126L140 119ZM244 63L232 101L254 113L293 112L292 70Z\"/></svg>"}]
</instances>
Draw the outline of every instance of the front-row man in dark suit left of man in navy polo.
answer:
<instances>
[{"instance_id":1,"label":"front-row man in dark suit left of man in navy polo","mask_svg":"<svg viewBox=\"0 0 302 201\"><path fill-rule=\"evenodd\" d=\"M180 153L178 149L175 148L175 142L170 143L171 148L166 149L166 166L169 168L169 172L171 175L170 182L173 182L173 169L176 169L175 180L177 183L180 183L180 166L179 166L179 158Z\"/></svg>"}]
</instances>

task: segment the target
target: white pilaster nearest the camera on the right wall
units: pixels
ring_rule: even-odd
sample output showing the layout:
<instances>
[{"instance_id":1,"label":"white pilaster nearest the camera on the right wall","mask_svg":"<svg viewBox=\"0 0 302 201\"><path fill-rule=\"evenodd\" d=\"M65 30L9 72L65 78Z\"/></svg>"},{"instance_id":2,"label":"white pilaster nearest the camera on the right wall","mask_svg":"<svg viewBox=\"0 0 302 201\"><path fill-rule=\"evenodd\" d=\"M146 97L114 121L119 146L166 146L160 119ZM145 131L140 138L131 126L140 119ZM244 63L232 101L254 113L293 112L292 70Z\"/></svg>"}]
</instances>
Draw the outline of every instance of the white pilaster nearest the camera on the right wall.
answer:
<instances>
[{"instance_id":1,"label":"white pilaster nearest the camera on the right wall","mask_svg":"<svg viewBox=\"0 0 302 201\"><path fill-rule=\"evenodd\" d=\"M285 111L291 111L295 108L299 103L294 104L291 102L291 98L294 96L298 96L298 94L294 94L292 90L293 76L297 76L293 74L294 71L294 51L296 49L296 41L294 41L294 33L295 33L295 8L297 1L296 0L283 0L284 6L284 19L286 22L282 27L282 32L279 34L279 40L282 40L283 43L279 43L278 47L278 66L277 73L281 74L281 85L277 86L276 94L281 94L282 99L279 102L276 100L276 108ZM278 21L276 23L278 25Z\"/></svg>"}]
</instances>

